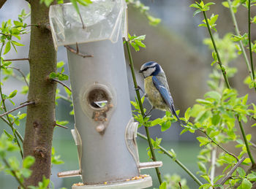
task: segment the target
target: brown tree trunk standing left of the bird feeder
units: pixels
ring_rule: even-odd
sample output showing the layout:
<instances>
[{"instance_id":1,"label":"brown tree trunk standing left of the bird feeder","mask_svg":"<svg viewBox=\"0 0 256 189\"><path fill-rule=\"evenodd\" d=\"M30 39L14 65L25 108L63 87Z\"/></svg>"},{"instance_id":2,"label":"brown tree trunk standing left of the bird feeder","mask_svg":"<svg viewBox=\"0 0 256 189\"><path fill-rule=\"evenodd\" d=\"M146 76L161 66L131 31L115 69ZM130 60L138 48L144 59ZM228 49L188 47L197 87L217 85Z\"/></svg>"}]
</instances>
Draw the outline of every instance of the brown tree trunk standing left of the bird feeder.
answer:
<instances>
[{"instance_id":1,"label":"brown tree trunk standing left of the bird feeder","mask_svg":"<svg viewBox=\"0 0 256 189\"><path fill-rule=\"evenodd\" d=\"M27 109L26 133L23 142L24 157L32 155L36 159L31 166L31 177L25 185L38 185L42 177L50 178L51 147L55 126L56 84L47 78L56 72L56 50L53 39L45 24L49 23L49 7L31 1L31 27L29 65L30 82L28 101L36 101Z\"/></svg>"}]
</instances>

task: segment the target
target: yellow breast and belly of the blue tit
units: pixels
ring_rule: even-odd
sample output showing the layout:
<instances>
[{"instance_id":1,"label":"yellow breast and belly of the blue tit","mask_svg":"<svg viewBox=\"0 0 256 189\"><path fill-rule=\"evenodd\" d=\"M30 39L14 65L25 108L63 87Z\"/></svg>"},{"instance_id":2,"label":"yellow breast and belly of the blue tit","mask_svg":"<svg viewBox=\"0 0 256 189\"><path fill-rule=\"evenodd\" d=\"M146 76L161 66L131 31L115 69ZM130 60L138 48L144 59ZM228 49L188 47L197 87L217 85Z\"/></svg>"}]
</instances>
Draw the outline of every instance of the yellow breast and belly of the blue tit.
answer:
<instances>
[{"instance_id":1,"label":"yellow breast and belly of the blue tit","mask_svg":"<svg viewBox=\"0 0 256 189\"><path fill-rule=\"evenodd\" d=\"M152 76L144 79L144 88L151 106L162 110L167 109L167 105L165 104L165 101L163 101L159 90L157 90L157 88L154 86Z\"/></svg>"}]
</instances>

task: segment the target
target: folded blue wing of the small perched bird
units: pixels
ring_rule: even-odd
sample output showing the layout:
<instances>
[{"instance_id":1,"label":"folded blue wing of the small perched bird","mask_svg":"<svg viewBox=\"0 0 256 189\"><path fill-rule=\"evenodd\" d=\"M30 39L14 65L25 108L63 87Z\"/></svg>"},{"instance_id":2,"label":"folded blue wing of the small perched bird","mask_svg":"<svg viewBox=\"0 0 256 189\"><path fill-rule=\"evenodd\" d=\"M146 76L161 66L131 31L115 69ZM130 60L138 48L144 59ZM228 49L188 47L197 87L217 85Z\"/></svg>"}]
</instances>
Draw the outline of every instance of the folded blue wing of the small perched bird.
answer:
<instances>
[{"instance_id":1,"label":"folded blue wing of the small perched bird","mask_svg":"<svg viewBox=\"0 0 256 189\"><path fill-rule=\"evenodd\" d=\"M173 104L173 98L170 96L170 91L165 87L165 85L160 82L156 76L152 77L152 81L154 83L154 86L159 90L159 93L162 96L162 99L164 99L167 106L170 108L170 110L173 112L173 115L177 117L177 119L180 121L178 115L176 114L176 109Z\"/></svg>"}]
</instances>

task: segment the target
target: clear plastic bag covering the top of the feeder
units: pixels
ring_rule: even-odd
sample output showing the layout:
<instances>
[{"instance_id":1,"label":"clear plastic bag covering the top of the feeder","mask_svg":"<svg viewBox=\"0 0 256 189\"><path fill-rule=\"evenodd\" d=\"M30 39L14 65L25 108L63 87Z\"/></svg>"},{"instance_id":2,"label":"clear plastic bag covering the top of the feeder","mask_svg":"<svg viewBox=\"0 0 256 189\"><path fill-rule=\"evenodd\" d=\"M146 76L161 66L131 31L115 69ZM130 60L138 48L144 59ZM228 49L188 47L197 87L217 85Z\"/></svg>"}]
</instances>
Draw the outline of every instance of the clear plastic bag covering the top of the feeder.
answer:
<instances>
[{"instance_id":1,"label":"clear plastic bag covering the top of the feeder","mask_svg":"<svg viewBox=\"0 0 256 189\"><path fill-rule=\"evenodd\" d=\"M56 49L76 42L117 42L120 30L127 37L125 0L92 0L89 6L78 7L80 15L71 3L50 6L50 28Z\"/></svg>"}]
</instances>

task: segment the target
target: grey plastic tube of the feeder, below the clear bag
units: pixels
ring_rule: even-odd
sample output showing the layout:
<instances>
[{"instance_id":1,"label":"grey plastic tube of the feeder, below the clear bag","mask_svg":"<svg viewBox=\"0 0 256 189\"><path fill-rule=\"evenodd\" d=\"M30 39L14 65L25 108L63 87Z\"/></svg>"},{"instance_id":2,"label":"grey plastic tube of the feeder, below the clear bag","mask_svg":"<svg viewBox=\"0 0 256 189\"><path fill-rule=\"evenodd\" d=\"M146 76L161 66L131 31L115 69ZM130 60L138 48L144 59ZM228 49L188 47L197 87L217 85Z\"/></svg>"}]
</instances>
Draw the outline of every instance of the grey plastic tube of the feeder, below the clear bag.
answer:
<instances>
[{"instance_id":1,"label":"grey plastic tube of the feeder, below the clear bag","mask_svg":"<svg viewBox=\"0 0 256 189\"><path fill-rule=\"evenodd\" d=\"M78 46L80 53L94 56L83 58L67 50L83 183L116 182L138 176L138 166L125 142L132 112L121 35L116 43L104 40ZM71 47L76 49L75 45ZM97 131L100 122L92 118L93 108L84 99L94 84L107 87L114 106L107 113L109 123L103 123L108 126L102 133Z\"/></svg>"}]
</instances>

